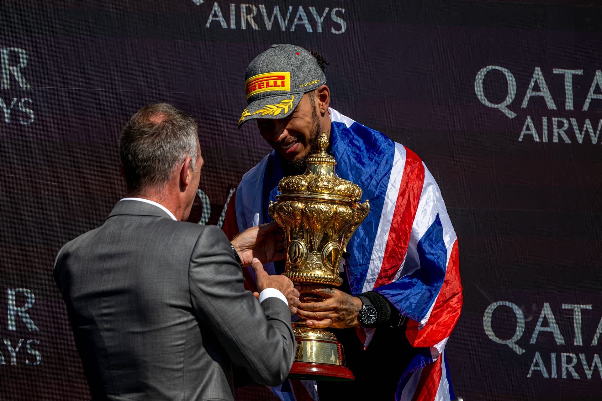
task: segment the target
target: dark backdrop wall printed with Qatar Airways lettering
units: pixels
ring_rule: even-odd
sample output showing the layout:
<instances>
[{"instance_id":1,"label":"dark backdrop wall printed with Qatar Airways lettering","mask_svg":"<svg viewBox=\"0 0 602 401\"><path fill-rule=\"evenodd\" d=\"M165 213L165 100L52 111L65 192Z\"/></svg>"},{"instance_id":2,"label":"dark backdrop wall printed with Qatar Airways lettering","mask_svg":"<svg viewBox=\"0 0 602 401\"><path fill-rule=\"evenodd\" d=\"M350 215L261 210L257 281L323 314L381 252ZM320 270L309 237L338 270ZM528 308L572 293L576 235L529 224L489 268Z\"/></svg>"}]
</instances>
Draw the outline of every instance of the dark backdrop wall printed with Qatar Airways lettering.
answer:
<instances>
[{"instance_id":1,"label":"dark backdrop wall printed with Qatar Airways lettering","mask_svg":"<svg viewBox=\"0 0 602 401\"><path fill-rule=\"evenodd\" d=\"M602 8L261 4L267 23L259 3L0 1L0 399L89 398L52 280L58 249L125 195L117 139L151 102L196 117L206 198L190 220L217 224L269 151L237 121L244 70L272 43L323 54L332 107L417 152L438 181L464 284L447 346L456 394L600 399ZM283 23L267 29L276 5ZM243 29L241 7L258 29Z\"/></svg>"}]
</instances>

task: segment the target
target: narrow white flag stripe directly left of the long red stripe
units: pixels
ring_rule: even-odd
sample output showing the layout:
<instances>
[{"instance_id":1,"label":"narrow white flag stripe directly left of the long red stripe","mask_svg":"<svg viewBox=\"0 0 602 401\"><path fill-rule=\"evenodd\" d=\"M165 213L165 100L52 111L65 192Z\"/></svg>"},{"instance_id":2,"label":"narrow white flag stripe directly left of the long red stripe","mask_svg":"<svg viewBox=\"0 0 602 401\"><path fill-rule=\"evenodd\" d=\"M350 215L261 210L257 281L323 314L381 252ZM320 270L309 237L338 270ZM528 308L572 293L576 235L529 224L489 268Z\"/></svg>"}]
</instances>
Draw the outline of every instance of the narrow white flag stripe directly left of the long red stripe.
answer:
<instances>
[{"instance_id":1,"label":"narrow white flag stripe directly left of the long red stripe","mask_svg":"<svg viewBox=\"0 0 602 401\"><path fill-rule=\"evenodd\" d=\"M372 247L372 256L370 257L370 265L368 273L364 281L362 292L371 291L374 289L374 283L378 278L380 266L382 266L383 257L385 257L386 242L389 238L389 230L391 230L391 221L393 221L393 213L397 204L399 195L399 186L402 182L403 168L406 165L406 148L403 145L395 142L395 155L393 158L393 167L389 175L389 183L386 188L385 202L380 213L380 221L374 238Z\"/></svg>"}]
</instances>

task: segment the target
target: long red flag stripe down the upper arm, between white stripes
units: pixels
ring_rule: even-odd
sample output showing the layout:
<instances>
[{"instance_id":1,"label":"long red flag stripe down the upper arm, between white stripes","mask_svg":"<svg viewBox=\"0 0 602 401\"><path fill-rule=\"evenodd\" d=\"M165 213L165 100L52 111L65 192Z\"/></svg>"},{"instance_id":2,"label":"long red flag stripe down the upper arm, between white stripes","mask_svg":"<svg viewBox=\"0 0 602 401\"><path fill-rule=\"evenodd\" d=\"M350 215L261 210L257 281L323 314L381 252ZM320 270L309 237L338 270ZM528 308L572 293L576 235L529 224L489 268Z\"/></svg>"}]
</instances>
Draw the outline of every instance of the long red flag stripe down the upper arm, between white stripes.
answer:
<instances>
[{"instance_id":1,"label":"long red flag stripe down the upper arm, between white stripes","mask_svg":"<svg viewBox=\"0 0 602 401\"><path fill-rule=\"evenodd\" d=\"M424 185L424 165L416 153L406 148L406 163L399 185L397 203L386 240L382 266L374 288L391 283L408 251L412 223Z\"/></svg>"}]
</instances>

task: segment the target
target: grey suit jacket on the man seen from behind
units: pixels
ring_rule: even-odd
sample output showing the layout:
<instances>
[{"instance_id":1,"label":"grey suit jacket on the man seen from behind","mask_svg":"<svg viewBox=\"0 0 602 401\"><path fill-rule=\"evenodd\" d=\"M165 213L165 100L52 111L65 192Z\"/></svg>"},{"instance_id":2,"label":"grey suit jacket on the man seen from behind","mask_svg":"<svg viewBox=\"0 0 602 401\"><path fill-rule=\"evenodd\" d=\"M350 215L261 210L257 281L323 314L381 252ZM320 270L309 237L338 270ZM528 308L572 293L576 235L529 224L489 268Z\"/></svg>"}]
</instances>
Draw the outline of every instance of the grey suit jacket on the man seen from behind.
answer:
<instances>
[{"instance_id":1,"label":"grey suit jacket on the man seen from behind","mask_svg":"<svg viewBox=\"0 0 602 401\"><path fill-rule=\"evenodd\" d=\"M119 201L67 243L54 278L93 400L234 400L232 363L278 385L293 363L290 311L260 305L225 234Z\"/></svg>"}]
</instances>

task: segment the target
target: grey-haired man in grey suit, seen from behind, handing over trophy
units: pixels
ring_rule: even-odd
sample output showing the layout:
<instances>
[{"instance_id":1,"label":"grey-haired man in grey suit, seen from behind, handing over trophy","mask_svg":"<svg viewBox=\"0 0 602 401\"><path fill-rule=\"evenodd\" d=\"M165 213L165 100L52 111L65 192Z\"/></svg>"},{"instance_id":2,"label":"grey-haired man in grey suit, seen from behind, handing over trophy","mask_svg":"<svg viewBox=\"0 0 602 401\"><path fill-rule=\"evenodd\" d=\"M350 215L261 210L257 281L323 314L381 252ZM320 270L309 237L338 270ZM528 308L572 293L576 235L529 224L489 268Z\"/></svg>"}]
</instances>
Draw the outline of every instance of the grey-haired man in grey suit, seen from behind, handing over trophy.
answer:
<instances>
[{"instance_id":1,"label":"grey-haired man in grey suit, seen from behind, handing over trophy","mask_svg":"<svg viewBox=\"0 0 602 401\"><path fill-rule=\"evenodd\" d=\"M181 222L203 159L196 123L173 106L138 111L119 148L129 197L64 245L54 268L93 400L234 400L232 364L281 384L299 293L262 268L284 258L277 225L230 243L215 226ZM255 294L243 287L250 264Z\"/></svg>"}]
</instances>

